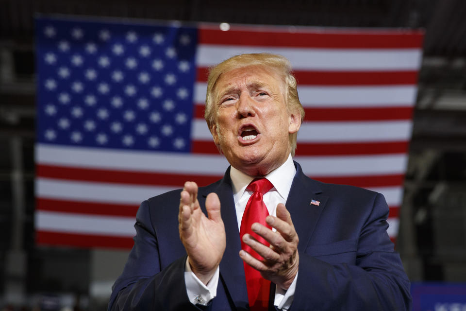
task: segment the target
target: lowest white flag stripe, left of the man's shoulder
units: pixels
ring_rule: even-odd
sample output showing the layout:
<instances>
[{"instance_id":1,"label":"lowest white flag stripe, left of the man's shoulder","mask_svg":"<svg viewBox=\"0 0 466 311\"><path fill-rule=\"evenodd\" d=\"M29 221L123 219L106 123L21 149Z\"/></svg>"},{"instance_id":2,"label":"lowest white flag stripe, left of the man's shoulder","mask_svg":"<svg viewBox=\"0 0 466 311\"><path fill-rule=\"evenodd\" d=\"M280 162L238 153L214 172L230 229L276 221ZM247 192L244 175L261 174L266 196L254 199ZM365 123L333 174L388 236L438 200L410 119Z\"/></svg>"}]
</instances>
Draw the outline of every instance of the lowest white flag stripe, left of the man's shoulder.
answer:
<instances>
[{"instance_id":1,"label":"lowest white flag stripe, left of the man's shoulder","mask_svg":"<svg viewBox=\"0 0 466 311\"><path fill-rule=\"evenodd\" d=\"M39 231L133 237L136 235L134 223L134 217L35 212L35 229Z\"/></svg>"}]
</instances>

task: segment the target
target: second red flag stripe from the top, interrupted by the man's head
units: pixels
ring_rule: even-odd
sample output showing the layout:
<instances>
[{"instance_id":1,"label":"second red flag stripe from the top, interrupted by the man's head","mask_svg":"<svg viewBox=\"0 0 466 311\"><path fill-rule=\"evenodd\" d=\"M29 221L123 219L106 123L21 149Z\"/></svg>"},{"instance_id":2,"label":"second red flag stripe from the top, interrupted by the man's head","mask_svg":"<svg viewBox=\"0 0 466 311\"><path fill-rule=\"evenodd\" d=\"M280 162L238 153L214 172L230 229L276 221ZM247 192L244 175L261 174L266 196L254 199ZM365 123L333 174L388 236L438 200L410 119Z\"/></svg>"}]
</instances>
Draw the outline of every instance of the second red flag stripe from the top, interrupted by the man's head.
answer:
<instances>
[{"instance_id":1,"label":"second red flag stripe from the top, interrupted by the man's head","mask_svg":"<svg viewBox=\"0 0 466 311\"><path fill-rule=\"evenodd\" d=\"M207 68L197 69L197 82L207 82ZM417 71L294 71L298 85L416 85Z\"/></svg>"}]
</instances>

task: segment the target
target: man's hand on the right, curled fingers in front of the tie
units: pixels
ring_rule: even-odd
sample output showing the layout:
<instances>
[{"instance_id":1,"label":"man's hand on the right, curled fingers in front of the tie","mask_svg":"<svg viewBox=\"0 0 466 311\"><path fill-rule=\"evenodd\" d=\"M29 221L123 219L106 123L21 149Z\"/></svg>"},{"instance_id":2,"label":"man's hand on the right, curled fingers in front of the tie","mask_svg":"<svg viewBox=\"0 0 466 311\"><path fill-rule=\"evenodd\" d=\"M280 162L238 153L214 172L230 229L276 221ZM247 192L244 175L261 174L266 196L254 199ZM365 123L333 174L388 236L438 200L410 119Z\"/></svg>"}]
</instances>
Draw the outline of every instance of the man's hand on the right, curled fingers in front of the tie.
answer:
<instances>
[{"instance_id":1,"label":"man's hand on the right, curled fingers in front of the tie","mask_svg":"<svg viewBox=\"0 0 466 311\"><path fill-rule=\"evenodd\" d=\"M264 259L255 259L244 250L239 252L239 256L251 267L258 270L262 277L287 290L298 273L300 261L298 234L291 221L290 213L282 203L277 206L277 217L267 216L266 223L277 231L273 232L259 223L252 224L251 229L266 239L270 243L269 247L258 242L250 234L245 234L242 237L243 242Z\"/></svg>"}]
</instances>

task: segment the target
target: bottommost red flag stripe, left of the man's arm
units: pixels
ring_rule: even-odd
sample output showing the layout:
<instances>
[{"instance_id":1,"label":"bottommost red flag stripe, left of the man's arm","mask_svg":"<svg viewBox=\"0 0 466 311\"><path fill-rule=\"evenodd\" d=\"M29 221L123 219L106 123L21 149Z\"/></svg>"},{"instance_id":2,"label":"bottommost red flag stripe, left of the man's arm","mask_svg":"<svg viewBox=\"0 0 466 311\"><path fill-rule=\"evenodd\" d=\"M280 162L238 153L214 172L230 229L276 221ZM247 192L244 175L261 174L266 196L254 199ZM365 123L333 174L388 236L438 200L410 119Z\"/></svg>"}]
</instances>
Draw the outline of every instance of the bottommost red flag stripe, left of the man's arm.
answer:
<instances>
[{"instance_id":1,"label":"bottommost red flag stripe, left of the man's arm","mask_svg":"<svg viewBox=\"0 0 466 311\"><path fill-rule=\"evenodd\" d=\"M124 248L133 247L133 239L127 237L101 236L89 234L73 234L64 232L35 231L35 242L38 245L63 245L75 247L105 247Z\"/></svg>"}]
</instances>

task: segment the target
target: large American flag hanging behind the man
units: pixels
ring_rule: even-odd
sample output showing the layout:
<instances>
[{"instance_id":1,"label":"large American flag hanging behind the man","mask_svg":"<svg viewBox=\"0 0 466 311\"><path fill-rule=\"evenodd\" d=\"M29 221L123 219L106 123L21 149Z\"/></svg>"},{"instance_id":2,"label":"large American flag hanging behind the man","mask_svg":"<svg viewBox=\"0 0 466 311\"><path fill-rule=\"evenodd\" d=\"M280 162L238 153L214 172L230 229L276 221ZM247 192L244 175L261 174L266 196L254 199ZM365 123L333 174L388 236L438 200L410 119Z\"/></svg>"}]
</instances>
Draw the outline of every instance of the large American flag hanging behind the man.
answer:
<instances>
[{"instance_id":1,"label":"large American flag hanging behind the man","mask_svg":"<svg viewBox=\"0 0 466 311\"><path fill-rule=\"evenodd\" d=\"M221 178L228 163L203 120L207 68L244 52L290 59L306 111L295 159L314 179L382 192L395 239L422 38L37 18L36 242L130 248L141 201Z\"/></svg>"}]
</instances>

